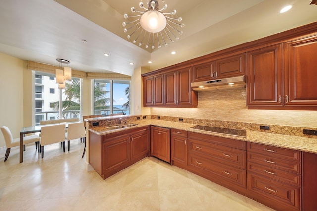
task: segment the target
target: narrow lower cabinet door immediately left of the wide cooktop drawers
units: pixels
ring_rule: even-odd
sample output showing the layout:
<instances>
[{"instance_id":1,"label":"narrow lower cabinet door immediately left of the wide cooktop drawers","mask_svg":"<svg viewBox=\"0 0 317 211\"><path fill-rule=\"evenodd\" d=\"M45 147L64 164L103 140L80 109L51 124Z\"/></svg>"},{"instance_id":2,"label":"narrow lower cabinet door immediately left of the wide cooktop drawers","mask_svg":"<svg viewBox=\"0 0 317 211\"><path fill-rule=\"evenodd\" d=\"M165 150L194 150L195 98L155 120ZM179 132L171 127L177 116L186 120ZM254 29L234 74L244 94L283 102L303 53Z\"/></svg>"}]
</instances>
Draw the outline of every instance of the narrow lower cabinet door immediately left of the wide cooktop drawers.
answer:
<instances>
[{"instance_id":1,"label":"narrow lower cabinet door immediately left of the wide cooktop drawers","mask_svg":"<svg viewBox=\"0 0 317 211\"><path fill-rule=\"evenodd\" d=\"M173 164L187 166L187 138L171 136L171 159Z\"/></svg>"}]
</instances>

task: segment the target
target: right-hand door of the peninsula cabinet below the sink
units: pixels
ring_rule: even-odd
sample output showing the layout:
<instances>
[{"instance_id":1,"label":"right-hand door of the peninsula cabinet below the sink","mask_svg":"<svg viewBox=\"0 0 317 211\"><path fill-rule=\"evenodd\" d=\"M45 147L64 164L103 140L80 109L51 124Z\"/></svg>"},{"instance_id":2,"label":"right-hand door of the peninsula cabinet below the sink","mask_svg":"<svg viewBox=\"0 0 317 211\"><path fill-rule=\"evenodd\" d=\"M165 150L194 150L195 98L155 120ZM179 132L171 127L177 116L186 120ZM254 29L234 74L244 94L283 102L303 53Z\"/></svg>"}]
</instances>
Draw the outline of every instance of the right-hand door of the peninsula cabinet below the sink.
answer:
<instances>
[{"instance_id":1,"label":"right-hand door of the peninsula cabinet below the sink","mask_svg":"<svg viewBox=\"0 0 317 211\"><path fill-rule=\"evenodd\" d=\"M149 130L131 135L131 160L146 157L150 150Z\"/></svg>"}]
</instances>

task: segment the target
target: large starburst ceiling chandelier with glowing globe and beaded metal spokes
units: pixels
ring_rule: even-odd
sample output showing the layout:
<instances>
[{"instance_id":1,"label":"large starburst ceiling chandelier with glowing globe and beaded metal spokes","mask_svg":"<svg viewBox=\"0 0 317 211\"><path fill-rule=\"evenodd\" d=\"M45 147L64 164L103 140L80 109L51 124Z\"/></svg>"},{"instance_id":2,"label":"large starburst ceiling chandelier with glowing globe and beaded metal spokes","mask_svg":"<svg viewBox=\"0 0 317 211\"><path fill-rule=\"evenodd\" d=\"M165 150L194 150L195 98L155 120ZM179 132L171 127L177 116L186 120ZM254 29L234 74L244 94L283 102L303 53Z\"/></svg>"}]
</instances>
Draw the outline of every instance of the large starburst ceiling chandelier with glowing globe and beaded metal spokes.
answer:
<instances>
[{"instance_id":1,"label":"large starburst ceiling chandelier with glowing globe and beaded metal spokes","mask_svg":"<svg viewBox=\"0 0 317 211\"><path fill-rule=\"evenodd\" d=\"M162 0L164 3L164 0ZM183 28L185 24L180 24L178 22L182 21L182 18L172 18L167 15L175 15L176 10L170 13L164 13L163 10L167 9L167 4L163 8L159 9L159 0L148 0L148 8L145 8L143 2L139 3L140 8L145 11L137 11L134 7L131 7L131 12L140 13L138 15L128 16L126 13L123 15L125 19L131 19L130 22L123 22L123 31L128 34L127 38L133 37L133 43L141 47L145 44L145 48L151 46L152 49L155 46L158 48L162 47L162 44L166 47L168 42L174 43L179 39L177 34L183 34L179 28ZM134 20L132 20L134 19Z\"/></svg>"}]
</instances>

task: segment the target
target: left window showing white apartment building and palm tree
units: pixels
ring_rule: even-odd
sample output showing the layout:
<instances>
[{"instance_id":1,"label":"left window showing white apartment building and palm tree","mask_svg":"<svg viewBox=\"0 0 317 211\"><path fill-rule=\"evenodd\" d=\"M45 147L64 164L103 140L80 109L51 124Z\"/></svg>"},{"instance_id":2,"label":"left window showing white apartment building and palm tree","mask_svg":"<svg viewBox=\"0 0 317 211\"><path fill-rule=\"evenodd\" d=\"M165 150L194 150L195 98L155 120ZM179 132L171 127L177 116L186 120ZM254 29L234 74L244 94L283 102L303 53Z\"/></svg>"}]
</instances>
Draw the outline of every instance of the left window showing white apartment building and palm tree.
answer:
<instances>
[{"instance_id":1,"label":"left window showing white apartment building and palm tree","mask_svg":"<svg viewBox=\"0 0 317 211\"><path fill-rule=\"evenodd\" d=\"M73 78L72 81L66 82L65 89L58 89L58 84L56 84L55 80L52 80L55 79L53 74L36 71L35 78L41 78L42 80L40 85L34 84L36 125L39 125L41 120L67 119L81 116L80 79ZM59 103L60 100L62 100L61 103Z\"/></svg>"}]
</instances>

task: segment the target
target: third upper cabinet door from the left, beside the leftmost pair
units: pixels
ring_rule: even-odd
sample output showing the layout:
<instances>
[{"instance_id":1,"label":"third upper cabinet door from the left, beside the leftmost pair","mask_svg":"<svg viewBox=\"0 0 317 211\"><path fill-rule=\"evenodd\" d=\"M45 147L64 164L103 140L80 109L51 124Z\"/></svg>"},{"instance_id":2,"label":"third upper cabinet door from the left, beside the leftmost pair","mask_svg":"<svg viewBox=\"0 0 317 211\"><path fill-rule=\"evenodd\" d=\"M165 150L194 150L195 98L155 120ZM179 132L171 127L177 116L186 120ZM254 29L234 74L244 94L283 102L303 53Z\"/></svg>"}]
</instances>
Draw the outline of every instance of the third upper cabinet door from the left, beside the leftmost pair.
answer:
<instances>
[{"instance_id":1,"label":"third upper cabinet door from the left, beside the leftmost pair","mask_svg":"<svg viewBox=\"0 0 317 211\"><path fill-rule=\"evenodd\" d=\"M165 106L176 106L177 100L177 80L176 71L164 74L164 85L165 85Z\"/></svg>"}]
</instances>

